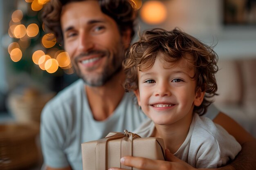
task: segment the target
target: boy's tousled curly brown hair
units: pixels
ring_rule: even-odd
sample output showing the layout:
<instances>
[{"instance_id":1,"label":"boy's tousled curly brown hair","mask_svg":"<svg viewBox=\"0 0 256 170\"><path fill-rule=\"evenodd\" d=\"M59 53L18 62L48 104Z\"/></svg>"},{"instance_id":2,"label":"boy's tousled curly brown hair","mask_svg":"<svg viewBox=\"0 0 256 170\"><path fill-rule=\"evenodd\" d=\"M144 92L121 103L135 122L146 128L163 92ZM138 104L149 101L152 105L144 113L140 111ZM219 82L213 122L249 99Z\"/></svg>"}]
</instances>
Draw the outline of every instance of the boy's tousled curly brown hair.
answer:
<instances>
[{"instance_id":1,"label":"boy's tousled curly brown hair","mask_svg":"<svg viewBox=\"0 0 256 170\"><path fill-rule=\"evenodd\" d=\"M184 59L192 64L195 75L191 78L197 82L195 91L200 88L206 92L202 104L195 106L193 111L199 115L206 113L207 107L213 102L211 97L217 95L215 73L218 71L218 55L210 46L177 28L172 31L146 31L140 40L130 47L123 62L126 91L138 89L138 70L151 68L158 53L164 54L162 56L166 62L176 63Z\"/></svg>"}]
</instances>

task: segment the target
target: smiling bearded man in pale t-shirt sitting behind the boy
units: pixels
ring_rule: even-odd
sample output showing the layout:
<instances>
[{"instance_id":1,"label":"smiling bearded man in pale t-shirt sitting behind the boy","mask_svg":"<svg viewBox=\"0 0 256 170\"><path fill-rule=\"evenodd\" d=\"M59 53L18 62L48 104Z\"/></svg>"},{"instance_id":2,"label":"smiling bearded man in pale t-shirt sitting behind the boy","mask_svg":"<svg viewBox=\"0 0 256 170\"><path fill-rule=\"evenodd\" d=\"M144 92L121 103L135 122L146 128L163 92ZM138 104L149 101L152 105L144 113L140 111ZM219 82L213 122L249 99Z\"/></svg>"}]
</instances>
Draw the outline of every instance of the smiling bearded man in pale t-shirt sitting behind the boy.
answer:
<instances>
[{"instance_id":1,"label":"smiling bearded man in pale t-shirt sitting behind the boy","mask_svg":"<svg viewBox=\"0 0 256 170\"><path fill-rule=\"evenodd\" d=\"M133 95L125 93L122 87L125 75L121 63L134 35L136 17L131 4L128 0L51 0L45 5L45 28L55 34L58 42L63 42L81 77L43 110L41 144L48 170L81 170L81 143L103 138L111 131L132 131L145 119ZM208 115L214 115L213 121L243 147L237 160L225 168L242 165L249 169L244 160L249 161L249 166L254 161L255 139L231 118L218 114L214 106ZM191 168L179 159L169 160L174 160L180 169ZM135 157L125 159L131 166L141 165L141 161L148 162L145 166L154 164L155 169L160 169L162 163Z\"/></svg>"}]
</instances>

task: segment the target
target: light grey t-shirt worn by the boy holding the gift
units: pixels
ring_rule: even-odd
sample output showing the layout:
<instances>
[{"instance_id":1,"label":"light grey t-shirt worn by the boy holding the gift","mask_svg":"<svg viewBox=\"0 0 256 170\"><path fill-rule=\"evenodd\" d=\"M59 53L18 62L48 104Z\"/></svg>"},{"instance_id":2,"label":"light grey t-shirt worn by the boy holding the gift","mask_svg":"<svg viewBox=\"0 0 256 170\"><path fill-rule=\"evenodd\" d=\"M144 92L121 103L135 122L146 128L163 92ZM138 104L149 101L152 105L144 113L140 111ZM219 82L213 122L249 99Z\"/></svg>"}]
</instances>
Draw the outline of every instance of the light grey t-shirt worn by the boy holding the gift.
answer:
<instances>
[{"instance_id":1,"label":"light grey t-shirt worn by the boy holding the gift","mask_svg":"<svg viewBox=\"0 0 256 170\"><path fill-rule=\"evenodd\" d=\"M148 119L134 132L150 137L154 129L154 122ZM188 135L174 155L194 168L218 168L233 160L240 150L240 144L224 128L194 114Z\"/></svg>"}]
</instances>

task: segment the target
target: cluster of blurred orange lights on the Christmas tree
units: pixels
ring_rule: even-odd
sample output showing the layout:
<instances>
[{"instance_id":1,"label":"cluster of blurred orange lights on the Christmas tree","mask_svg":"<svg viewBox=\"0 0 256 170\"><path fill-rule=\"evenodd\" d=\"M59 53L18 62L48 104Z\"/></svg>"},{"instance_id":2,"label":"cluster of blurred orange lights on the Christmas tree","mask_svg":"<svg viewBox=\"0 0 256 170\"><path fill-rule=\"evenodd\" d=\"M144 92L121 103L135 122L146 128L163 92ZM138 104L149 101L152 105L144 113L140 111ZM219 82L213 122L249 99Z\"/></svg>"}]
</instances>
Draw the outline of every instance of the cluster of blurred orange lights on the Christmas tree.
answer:
<instances>
[{"instance_id":1,"label":"cluster of blurred orange lights on the Christmas tree","mask_svg":"<svg viewBox=\"0 0 256 170\"><path fill-rule=\"evenodd\" d=\"M31 10L40 11L43 5L49 0L25 0L31 3ZM16 10L11 15L9 36L15 38L18 42L12 42L8 46L8 52L13 62L18 62L22 58L22 49L26 49L30 45L30 39L35 38L39 33L39 26L35 23L29 24L27 27L21 24L23 13L21 10ZM72 74L72 66L69 55L57 48L52 48L56 45L56 39L49 40L49 37L53 36L51 33L43 35L41 38L41 45L47 51L45 53L42 50L34 51L32 60L34 64L42 70L48 73L55 73L58 68L66 70L65 73Z\"/></svg>"}]
</instances>

